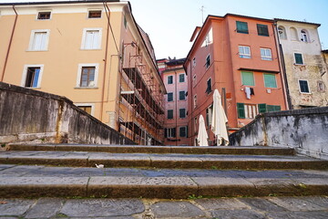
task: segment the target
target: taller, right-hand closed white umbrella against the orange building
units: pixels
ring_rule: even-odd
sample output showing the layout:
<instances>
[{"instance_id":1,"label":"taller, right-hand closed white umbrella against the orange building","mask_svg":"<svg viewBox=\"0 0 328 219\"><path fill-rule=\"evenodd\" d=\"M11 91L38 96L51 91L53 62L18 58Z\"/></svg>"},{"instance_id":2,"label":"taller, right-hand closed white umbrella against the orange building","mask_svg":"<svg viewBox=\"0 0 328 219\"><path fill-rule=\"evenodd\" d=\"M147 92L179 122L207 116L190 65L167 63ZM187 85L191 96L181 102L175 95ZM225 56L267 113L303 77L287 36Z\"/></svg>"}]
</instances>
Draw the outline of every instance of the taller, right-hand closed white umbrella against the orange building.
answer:
<instances>
[{"instance_id":1,"label":"taller, right-hand closed white umbrella against the orange building","mask_svg":"<svg viewBox=\"0 0 328 219\"><path fill-rule=\"evenodd\" d=\"M223 140L226 142L225 145L229 144L226 127L227 122L228 119L222 107L220 93L218 89L215 89L213 94L213 112L210 126L216 137L217 145L220 145Z\"/></svg>"}]
</instances>

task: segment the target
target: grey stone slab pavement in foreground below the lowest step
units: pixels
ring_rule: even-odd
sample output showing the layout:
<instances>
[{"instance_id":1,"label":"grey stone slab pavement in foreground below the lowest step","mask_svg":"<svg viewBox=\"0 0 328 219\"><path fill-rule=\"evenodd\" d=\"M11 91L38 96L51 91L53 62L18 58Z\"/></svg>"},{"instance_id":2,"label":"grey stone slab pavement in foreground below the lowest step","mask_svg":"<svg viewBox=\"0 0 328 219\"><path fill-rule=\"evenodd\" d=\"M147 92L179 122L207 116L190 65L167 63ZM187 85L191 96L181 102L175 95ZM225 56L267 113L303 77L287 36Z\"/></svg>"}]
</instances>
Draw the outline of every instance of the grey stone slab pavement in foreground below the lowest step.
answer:
<instances>
[{"instance_id":1,"label":"grey stone slab pavement in foreground below the lowest step","mask_svg":"<svg viewBox=\"0 0 328 219\"><path fill-rule=\"evenodd\" d=\"M326 219L327 196L160 199L0 199L0 218Z\"/></svg>"}]
</instances>

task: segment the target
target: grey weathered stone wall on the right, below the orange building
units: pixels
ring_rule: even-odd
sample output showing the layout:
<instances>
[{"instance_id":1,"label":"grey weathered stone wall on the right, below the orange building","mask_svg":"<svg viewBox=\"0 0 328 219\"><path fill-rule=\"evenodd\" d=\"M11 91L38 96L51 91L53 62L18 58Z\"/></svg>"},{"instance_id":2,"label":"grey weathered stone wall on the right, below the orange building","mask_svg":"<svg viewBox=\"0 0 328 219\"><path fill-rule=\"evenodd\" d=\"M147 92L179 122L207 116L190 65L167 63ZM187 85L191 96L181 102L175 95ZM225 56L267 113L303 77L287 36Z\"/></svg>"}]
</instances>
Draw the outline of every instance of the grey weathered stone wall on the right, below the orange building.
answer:
<instances>
[{"instance_id":1,"label":"grey weathered stone wall on the right, below the orange building","mask_svg":"<svg viewBox=\"0 0 328 219\"><path fill-rule=\"evenodd\" d=\"M229 138L235 146L292 147L328 160L328 107L260 114Z\"/></svg>"}]
</instances>

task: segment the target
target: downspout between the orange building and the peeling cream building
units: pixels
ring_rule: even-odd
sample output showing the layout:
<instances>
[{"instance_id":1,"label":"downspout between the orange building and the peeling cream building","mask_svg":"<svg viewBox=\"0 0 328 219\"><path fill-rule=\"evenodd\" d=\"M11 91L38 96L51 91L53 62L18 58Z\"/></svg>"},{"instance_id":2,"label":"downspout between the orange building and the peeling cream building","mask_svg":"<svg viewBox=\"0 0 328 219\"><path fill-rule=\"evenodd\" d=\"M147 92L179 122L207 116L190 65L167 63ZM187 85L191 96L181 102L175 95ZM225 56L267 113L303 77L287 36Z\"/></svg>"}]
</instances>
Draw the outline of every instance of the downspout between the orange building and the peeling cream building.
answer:
<instances>
[{"instance_id":1,"label":"downspout between the orange building and the peeling cream building","mask_svg":"<svg viewBox=\"0 0 328 219\"><path fill-rule=\"evenodd\" d=\"M290 94L289 94L289 89L288 89L286 68L285 68L284 57L283 57L283 53L282 53L282 46L281 46L279 37L276 36L276 34L278 33L277 24L273 23L272 26L273 26L274 41L276 43L276 50L277 50L277 55L278 55L279 71L282 72L283 99L285 100L285 105L287 107L286 110L292 110L292 104L291 104L291 99L290 99Z\"/></svg>"}]
</instances>

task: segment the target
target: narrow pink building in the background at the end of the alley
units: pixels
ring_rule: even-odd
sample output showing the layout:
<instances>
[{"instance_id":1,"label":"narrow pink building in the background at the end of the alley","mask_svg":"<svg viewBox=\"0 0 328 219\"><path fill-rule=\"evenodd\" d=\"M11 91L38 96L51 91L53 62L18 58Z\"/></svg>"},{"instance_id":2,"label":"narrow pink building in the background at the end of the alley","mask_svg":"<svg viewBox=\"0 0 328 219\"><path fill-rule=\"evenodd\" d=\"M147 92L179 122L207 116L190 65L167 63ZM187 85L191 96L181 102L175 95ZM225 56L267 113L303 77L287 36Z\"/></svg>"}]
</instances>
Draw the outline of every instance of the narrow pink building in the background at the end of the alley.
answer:
<instances>
[{"instance_id":1,"label":"narrow pink building in the background at the end of the alley","mask_svg":"<svg viewBox=\"0 0 328 219\"><path fill-rule=\"evenodd\" d=\"M159 59L160 76L167 95L164 99L165 145L190 145L188 138L188 81L183 68L186 58Z\"/></svg>"}]
</instances>

